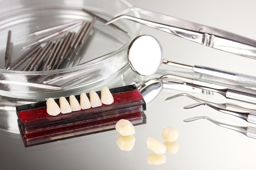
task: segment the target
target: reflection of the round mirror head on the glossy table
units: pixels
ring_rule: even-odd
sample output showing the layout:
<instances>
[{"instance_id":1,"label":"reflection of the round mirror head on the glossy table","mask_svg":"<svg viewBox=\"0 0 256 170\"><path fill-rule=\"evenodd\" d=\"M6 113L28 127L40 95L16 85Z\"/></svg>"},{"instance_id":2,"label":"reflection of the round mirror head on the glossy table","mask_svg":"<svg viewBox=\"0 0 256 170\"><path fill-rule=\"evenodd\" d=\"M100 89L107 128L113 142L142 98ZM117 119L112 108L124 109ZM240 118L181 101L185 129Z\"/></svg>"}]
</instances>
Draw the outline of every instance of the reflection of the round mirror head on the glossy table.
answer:
<instances>
[{"instance_id":1,"label":"reflection of the round mirror head on the glossy table","mask_svg":"<svg viewBox=\"0 0 256 170\"><path fill-rule=\"evenodd\" d=\"M162 79L153 78L139 85L138 90L140 91L146 104L152 102L162 91L163 82Z\"/></svg>"}]
</instances>

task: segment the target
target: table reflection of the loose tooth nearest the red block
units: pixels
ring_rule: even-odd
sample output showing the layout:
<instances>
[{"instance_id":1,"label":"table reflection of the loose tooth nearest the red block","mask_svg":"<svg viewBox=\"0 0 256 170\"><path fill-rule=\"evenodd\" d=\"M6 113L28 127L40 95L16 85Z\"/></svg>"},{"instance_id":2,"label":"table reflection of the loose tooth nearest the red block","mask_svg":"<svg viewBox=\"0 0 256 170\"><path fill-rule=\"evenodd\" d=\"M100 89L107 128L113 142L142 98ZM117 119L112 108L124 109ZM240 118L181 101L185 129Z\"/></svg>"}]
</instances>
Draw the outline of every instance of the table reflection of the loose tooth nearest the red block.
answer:
<instances>
[{"instance_id":1,"label":"table reflection of the loose tooth nearest the red block","mask_svg":"<svg viewBox=\"0 0 256 170\"><path fill-rule=\"evenodd\" d=\"M119 136L117 138L117 146L120 150L130 151L135 145L135 137L132 135Z\"/></svg>"}]
</instances>

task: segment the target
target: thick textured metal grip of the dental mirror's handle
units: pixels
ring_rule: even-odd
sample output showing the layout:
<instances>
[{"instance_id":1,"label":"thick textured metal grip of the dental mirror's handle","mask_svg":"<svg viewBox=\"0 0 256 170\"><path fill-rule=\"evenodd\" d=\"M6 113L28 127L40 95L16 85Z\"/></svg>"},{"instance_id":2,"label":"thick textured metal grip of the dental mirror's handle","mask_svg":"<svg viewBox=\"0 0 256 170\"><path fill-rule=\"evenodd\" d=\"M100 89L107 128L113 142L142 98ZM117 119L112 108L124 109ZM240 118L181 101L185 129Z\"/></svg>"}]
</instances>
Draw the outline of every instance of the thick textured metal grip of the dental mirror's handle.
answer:
<instances>
[{"instance_id":1,"label":"thick textured metal grip of the dental mirror's handle","mask_svg":"<svg viewBox=\"0 0 256 170\"><path fill-rule=\"evenodd\" d=\"M248 85L256 85L256 77L251 75L245 75L241 73L234 73L229 71L224 71L216 68L204 67L204 66L193 66L193 71L197 73L202 73L206 75L211 75L213 77L219 77L223 79L229 79L235 82L248 84Z\"/></svg>"}]
</instances>

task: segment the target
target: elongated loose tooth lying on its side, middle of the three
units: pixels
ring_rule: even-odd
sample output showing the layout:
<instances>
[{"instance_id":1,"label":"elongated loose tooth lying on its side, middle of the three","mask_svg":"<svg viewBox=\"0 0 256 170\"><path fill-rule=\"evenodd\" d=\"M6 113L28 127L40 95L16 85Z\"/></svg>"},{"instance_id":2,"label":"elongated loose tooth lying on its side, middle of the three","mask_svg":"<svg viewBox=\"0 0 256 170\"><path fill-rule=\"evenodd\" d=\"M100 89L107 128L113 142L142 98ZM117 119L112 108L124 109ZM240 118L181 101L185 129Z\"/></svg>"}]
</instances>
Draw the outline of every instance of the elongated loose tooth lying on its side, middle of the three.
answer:
<instances>
[{"instance_id":1,"label":"elongated loose tooth lying on its side, middle of the three","mask_svg":"<svg viewBox=\"0 0 256 170\"><path fill-rule=\"evenodd\" d=\"M166 152L166 146L157 139L151 137L147 138L147 148L157 154L164 154Z\"/></svg>"}]
</instances>

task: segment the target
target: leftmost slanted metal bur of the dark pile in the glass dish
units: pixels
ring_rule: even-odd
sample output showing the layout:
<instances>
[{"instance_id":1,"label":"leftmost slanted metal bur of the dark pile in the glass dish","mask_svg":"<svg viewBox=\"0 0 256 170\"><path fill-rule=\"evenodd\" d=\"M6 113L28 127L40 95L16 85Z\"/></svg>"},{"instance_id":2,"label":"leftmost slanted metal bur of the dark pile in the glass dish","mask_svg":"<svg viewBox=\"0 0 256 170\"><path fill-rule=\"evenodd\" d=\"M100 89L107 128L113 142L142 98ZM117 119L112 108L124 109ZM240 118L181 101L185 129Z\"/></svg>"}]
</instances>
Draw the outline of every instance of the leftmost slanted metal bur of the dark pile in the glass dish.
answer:
<instances>
[{"instance_id":1,"label":"leftmost slanted metal bur of the dark pile in the glass dish","mask_svg":"<svg viewBox=\"0 0 256 170\"><path fill-rule=\"evenodd\" d=\"M20 57L18 57L14 62L12 62L7 70L14 70L16 69L18 66L20 66L25 60L27 60L29 57L31 57L32 54L34 54L39 48L40 48L40 44L36 44L34 46L32 46L30 49L28 49L25 53L23 53L22 55L20 55Z\"/></svg>"}]
</instances>

